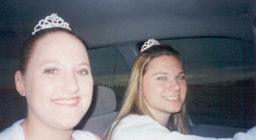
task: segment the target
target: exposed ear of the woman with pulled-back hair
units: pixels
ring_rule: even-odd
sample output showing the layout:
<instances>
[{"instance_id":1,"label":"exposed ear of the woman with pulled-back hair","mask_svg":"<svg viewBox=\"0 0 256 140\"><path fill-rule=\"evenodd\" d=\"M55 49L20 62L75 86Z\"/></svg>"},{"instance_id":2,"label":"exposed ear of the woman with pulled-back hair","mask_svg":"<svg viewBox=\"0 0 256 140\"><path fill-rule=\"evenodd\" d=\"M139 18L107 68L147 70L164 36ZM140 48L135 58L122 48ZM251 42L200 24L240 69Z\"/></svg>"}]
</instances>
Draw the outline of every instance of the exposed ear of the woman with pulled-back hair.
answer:
<instances>
[{"instance_id":1,"label":"exposed ear of the woman with pulled-back hair","mask_svg":"<svg viewBox=\"0 0 256 140\"><path fill-rule=\"evenodd\" d=\"M15 73L15 86L16 90L18 91L18 93L20 93L21 96L26 96L24 79L21 74L21 71L17 71Z\"/></svg>"}]
</instances>

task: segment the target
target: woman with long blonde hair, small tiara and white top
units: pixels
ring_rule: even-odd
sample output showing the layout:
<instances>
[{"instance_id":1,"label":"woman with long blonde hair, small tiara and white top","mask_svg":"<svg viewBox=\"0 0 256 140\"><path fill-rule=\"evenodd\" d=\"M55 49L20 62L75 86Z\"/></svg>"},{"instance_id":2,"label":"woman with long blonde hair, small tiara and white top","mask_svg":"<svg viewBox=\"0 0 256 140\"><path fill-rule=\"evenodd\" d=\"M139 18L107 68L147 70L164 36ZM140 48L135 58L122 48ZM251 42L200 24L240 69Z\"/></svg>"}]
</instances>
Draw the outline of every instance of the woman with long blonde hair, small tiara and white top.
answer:
<instances>
[{"instance_id":1,"label":"woman with long blonde hair, small tiara and white top","mask_svg":"<svg viewBox=\"0 0 256 140\"><path fill-rule=\"evenodd\" d=\"M103 139L215 139L187 135L186 93L179 53L149 39L133 63L121 110Z\"/></svg>"}]
</instances>

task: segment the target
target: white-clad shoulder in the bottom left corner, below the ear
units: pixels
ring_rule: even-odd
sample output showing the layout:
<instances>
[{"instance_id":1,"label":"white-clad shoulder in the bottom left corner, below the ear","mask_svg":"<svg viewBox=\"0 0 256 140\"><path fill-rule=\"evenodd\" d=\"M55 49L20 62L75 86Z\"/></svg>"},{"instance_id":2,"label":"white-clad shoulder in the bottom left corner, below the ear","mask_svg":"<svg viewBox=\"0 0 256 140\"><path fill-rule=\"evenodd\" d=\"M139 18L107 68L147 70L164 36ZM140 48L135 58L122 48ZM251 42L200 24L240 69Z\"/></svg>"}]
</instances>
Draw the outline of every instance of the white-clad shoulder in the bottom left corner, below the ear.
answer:
<instances>
[{"instance_id":1,"label":"white-clad shoulder in the bottom left corner, below the ear","mask_svg":"<svg viewBox=\"0 0 256 140\"><path fill-rule=\"evenodd\" d=\"M23 129L20 126L20 123L23 122L24 119L18 120L17 122L13 123L12 126L9 128L5 129L0 133L0 140L2 139L9 139L9 140L23 140L24 138L24 133Z\"/></svg>"}]
</instances>

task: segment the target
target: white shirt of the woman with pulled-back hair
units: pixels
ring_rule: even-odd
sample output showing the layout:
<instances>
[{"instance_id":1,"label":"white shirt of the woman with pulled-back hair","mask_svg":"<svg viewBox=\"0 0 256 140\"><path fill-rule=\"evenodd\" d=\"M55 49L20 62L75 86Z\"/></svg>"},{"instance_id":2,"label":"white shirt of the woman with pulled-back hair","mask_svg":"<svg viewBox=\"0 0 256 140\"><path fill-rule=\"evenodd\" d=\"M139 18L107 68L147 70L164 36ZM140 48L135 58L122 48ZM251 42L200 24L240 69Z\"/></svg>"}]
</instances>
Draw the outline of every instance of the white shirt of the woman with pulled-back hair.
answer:
<instances>
[{"instance_id":1,"label":"white shirt of the woman with pulled-back hair","mask_svg":"<svg viewBox=\"0 0 256 140\"><path fill-rule=\"evenodd\" d=\"M25 140L23 129L20 126L20 123L23 121L24 119L18 120L12 126L10 126L10 128L2 131L0 133L0 140ZM88 131L74 131L72 136L76 140L96 140L95 135Z\"/></svg>"}]
</instances>

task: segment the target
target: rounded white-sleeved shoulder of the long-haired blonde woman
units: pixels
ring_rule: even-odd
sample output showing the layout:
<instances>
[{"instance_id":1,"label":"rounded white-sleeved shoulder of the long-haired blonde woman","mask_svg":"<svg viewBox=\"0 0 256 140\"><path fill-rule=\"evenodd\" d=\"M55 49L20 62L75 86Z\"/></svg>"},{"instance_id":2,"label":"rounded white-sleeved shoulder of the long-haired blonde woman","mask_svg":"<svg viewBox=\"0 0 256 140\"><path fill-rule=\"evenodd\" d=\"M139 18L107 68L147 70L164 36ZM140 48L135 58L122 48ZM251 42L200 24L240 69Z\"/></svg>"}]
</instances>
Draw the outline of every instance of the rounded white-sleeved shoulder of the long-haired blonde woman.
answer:
<instances>
[{"instance_id":1,"label":"rounded white-sleeved shoulder of the long-haired blonde woman","mask_svg":"<svg viewBox=\"0 0 256 140\"><path fill-rule=\"evenodd\" d=\"M145 115L129 115L113 130L113 139L152 139L170 133L167 128Z\"/></svg>"}]
</instances>

